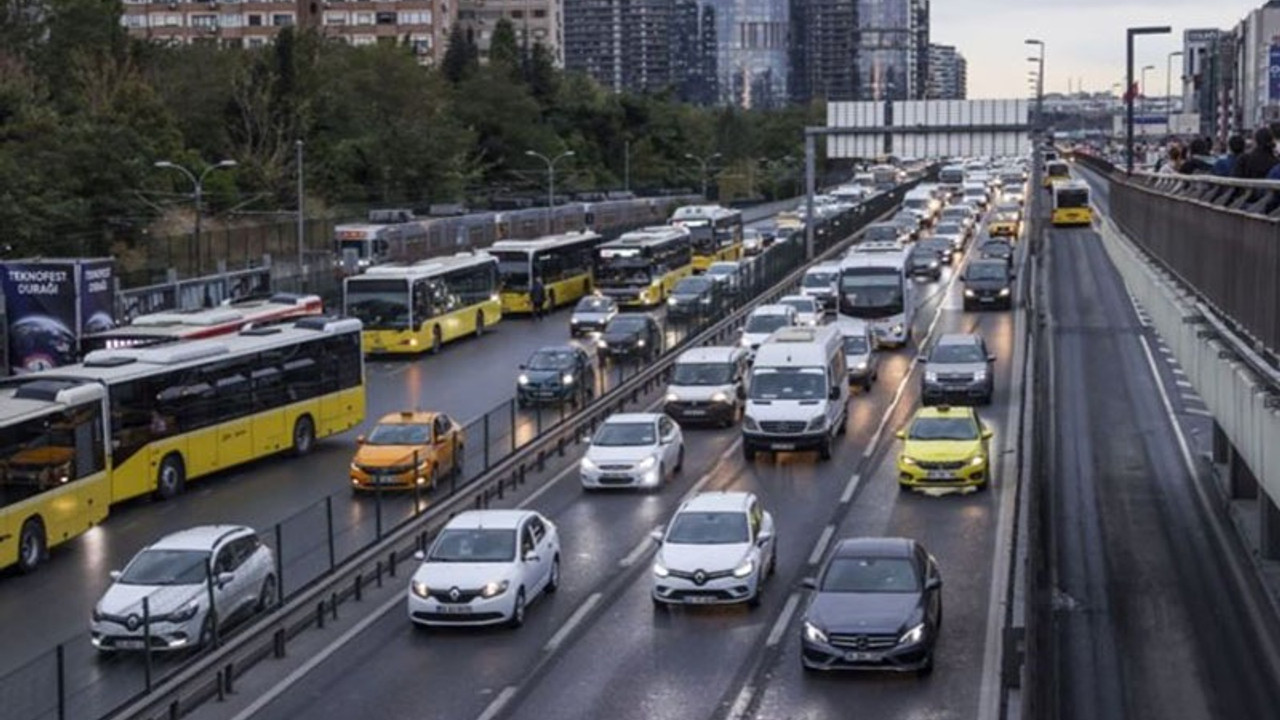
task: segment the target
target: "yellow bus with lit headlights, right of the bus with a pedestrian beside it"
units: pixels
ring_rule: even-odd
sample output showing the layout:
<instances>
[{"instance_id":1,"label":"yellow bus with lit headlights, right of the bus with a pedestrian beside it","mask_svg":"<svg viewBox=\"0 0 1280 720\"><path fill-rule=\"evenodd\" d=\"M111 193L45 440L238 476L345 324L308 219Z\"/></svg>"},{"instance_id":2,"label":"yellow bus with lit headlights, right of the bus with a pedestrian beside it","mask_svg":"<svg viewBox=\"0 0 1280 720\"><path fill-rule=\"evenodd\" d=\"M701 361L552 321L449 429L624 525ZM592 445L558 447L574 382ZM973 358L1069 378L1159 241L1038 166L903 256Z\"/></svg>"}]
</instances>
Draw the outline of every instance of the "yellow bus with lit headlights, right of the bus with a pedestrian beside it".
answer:
<instances>
[{"instance_id":1,"label":"yellow bus with lit headlights, right of the bus with a pedestrian beside it","mask_svg":"<svg viewBox=\"0 0 1280 720\"><path fill-rule=\"evenodd\" d=\"M692 274L692 256L686 228L655 225L623 233L595 249L595 290L618 305L653 307Z\"/></svg>"}]
</instances>

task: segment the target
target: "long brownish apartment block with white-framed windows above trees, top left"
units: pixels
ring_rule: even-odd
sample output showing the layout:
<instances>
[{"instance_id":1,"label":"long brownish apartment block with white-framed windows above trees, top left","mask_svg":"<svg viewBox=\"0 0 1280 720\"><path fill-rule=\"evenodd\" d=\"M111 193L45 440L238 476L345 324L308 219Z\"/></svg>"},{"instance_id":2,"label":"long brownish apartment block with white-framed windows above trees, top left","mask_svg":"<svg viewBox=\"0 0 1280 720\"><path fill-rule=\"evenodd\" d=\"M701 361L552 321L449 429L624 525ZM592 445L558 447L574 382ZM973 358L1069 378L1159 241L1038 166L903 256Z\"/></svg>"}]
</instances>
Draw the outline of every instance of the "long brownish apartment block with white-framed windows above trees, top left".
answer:
<instances>
[{"instance_id":1,"label":"long brownish apartment block with white-framed windows above trees, top left","mask_svg":"<svg viewBox=\"0 0 1280 720\"><path fill-rule=\"evenodd\" d=\"M444 58L456 17L453 0L124 0L120 23L134 37L221 47L260 47L302 26L351 45L407 42L429 64Z\"/></svg>"}]
</instances>

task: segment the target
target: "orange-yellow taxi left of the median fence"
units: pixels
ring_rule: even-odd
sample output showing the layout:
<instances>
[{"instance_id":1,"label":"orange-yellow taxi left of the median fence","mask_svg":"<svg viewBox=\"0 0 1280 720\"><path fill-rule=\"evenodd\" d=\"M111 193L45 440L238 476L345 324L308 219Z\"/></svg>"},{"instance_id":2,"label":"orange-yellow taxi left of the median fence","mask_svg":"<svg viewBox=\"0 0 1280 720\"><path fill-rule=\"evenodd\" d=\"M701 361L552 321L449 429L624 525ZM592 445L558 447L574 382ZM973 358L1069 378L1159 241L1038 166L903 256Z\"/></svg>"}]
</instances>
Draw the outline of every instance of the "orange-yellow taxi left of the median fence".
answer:
<instances>
[{"instance_id":1,"label":"orange-yellow taxi left of the median fence","mask_svg":"<svg viewBox=\"0 0 1280 720\"><path fill-rule=\"evenodd\" d=\"M356 443L351 461L356 491L433 488L445 474L460 473L466 456L462 427L444 413L422 410L384 415Z\"/></svg>"}]
</instances>

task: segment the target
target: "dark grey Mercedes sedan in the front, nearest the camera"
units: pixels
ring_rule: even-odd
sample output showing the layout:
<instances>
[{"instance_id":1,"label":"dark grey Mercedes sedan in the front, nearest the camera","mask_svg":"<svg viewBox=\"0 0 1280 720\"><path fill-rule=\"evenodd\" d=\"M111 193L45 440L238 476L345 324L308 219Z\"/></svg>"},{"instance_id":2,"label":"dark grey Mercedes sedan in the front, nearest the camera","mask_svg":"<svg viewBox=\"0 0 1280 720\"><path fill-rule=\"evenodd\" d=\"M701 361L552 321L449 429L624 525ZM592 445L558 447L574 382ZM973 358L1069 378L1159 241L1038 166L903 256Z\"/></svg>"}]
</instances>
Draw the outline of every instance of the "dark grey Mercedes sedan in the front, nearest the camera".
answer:
<instances>
[{"instance_id":1,"label":"dark grey Mercedes sedan in the front, nearest the camera","mask_svg":"<svg viewBox=\"0 0 1280 720\"><path fill-rule=\"evenodd\" d=\"M942 575L906 538L836 544L817 578L800 630L806 670L893 670L925 675L942 628Z\"/></svg>"}]
</instances>

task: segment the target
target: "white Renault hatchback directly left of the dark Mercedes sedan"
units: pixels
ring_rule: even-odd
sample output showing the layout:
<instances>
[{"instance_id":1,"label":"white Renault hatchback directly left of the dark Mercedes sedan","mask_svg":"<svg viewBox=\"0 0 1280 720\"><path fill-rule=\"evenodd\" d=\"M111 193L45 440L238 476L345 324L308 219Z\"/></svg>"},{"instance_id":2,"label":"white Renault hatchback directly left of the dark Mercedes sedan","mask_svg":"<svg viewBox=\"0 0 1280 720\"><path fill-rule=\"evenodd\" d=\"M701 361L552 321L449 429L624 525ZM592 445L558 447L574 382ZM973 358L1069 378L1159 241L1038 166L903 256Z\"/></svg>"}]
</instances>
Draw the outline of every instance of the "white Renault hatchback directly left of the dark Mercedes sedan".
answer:
<instances>
[{"instance_id":1,"label":"white Renault hatchback directly left of the dark Mercedes sedan","mask_svg":"<svg viewBox=\"0 0 1280 720\"><path fill-rule=\"evenodd\" d=\"M764 579L777 568L773 516L750 492L704 492L676 510L653 562L653 602L667 605L760 603Z\"/></svg>"}]
</instances>

